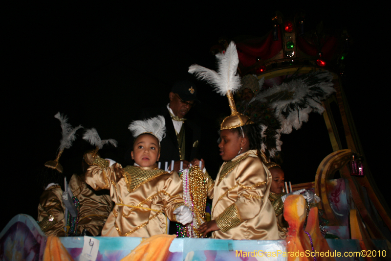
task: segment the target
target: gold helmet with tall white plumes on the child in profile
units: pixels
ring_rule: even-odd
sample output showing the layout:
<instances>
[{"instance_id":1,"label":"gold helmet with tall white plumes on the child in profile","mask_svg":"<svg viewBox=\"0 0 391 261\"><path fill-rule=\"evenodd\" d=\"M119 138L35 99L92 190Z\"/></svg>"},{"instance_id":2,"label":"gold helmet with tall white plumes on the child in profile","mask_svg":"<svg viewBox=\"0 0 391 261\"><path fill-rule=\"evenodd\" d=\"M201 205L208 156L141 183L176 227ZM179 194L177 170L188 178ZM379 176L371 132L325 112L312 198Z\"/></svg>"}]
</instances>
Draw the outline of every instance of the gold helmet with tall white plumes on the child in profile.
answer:
<instances>
[{"instance_id":1,"label":"gold helmet with tall white plumes on the child in profile","mask_svg":"<svg viewBox=\"0 0 391 261\"><path fill-rule=\"evenodd\" d=\"M189 72L195 74L199 79L206 80L220 95L227 95L231 115L225 118L220 130L234 129L246 124L253 123L247 116L236 110L233 94L240 88L240 77L237 73L239 57L234 42L231 42L223 53L217 53L218 70L213 71L199 65L189 67Z\"/></svg>"}]
</instances>

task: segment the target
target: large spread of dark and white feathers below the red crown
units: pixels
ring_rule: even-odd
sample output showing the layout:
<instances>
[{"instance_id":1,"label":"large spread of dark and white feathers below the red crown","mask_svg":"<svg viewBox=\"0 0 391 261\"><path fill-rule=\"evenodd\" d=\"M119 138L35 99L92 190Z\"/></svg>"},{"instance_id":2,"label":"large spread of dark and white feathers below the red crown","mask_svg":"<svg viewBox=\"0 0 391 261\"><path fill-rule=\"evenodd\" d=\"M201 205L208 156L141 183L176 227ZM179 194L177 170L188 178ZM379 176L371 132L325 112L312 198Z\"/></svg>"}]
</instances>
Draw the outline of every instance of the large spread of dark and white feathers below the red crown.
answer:
<instances>
[{"instance_id":1,"label":"large spread of dark and white feathers below the red crown","mask_svg":"<svg viewBox=\"0 0 391 261\"><path fill-rule=\"evenodd\" d=\"M265 130L261 134L262 150L266 157L273 158L281 151L281 134L289 134L292 128L300 129L310 112L322 113L322 101L334 92L329 72L312 71L291 76L280 85L262 90L250 102L242 102L238 111L261 124Z\"/></svg>"}]
</instances>

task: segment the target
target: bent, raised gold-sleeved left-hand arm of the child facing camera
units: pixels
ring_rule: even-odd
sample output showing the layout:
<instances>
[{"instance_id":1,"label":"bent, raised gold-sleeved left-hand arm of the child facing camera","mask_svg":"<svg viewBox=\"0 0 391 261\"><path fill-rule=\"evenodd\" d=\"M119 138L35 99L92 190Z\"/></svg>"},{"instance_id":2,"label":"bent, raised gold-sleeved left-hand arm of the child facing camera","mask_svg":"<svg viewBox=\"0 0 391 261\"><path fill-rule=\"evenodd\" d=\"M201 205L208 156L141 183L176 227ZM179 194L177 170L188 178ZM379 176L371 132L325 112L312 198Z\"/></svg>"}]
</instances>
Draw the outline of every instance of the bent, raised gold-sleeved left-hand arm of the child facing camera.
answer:
<instances>
[{"instance_id":1,"label":"bent, raised gold-sleeved left-hand arm of the child facing camera","mask_svg":"<svg viewBox=\"0 0 391 261\"><path fill-rule=\"evenodd\" d=\"M122 166L114 163L109 166L110 162L102 158L96 158L91 162L85 174L86 183L94 190L110 189L110 182L117 182L122 178Z\"/></svg>"}]
</instances>

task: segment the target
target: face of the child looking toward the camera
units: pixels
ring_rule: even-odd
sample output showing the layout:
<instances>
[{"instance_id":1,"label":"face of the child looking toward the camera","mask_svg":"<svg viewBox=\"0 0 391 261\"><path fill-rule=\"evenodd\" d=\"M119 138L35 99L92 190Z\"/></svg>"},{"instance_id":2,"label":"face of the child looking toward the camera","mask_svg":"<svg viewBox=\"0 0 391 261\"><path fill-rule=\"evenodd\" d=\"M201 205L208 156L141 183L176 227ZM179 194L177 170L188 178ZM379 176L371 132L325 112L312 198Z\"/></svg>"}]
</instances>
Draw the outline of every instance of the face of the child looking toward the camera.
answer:
<instances>
[{"instance_id":1,"label":"face of the child looking toward the camera","mask_svg":"<svg viewBox=\"0 0 391 261\"><path fill-rule=\"evenodd\" d=\"M149 167L154 165L160 157L159 141L150 134L138 136L133 144L131 158L139 166Z\"/></svg>"}]
</instances>

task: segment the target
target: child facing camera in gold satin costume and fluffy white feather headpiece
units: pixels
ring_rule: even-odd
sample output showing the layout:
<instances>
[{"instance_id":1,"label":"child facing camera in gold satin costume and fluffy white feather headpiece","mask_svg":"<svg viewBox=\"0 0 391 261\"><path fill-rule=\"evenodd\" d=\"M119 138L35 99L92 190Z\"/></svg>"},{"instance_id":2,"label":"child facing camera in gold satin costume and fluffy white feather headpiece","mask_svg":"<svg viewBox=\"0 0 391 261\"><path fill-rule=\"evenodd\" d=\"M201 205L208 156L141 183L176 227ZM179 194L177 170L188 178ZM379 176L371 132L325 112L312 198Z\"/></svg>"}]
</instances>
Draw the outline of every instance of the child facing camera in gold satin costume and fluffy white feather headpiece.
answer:
<instances>
[{"instance_id":1,"label":"child facing camera in gold satin costume and fluffy white feather headpiece","mask_svg":"<svg viewBox=\"0 0 391 261\"><path fill-rule=\"evenodd\" d=\"M182 224L193 216L182 199L182 181L175 172L157 168L164 118L134 121L131 157L134 166L123 168L111 160L86 154L92 160L85 176L93 189L109 189L115 206L103 227L102 236L151 237L167 233L166 216ZM88 159L89 158L89 159Z\"/></svg>"}]
</instances>

